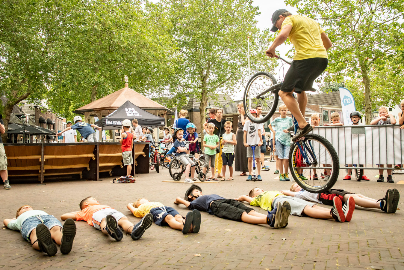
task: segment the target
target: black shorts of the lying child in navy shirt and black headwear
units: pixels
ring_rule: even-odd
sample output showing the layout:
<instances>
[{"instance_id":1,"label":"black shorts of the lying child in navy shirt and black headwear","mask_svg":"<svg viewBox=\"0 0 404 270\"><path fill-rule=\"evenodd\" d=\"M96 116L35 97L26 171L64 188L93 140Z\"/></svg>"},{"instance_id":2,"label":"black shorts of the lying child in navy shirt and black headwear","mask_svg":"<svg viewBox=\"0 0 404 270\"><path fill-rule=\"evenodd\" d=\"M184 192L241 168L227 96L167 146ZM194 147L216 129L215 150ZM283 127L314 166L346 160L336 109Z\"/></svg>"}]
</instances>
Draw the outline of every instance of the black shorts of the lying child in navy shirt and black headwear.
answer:
<instances>
[{"instance_id":1,"label":"black shorts of the lying child in navy shirt and black headwear","mask_svg":"<svg viewBox=\"0 0 404 270\"><path fill-rule=\"evenodd\" d=\"M249 213L251 210L254 210L234 199L213 201L212 204L210 204L210 209L212 209L213 214L217 217L235 221L241 221L241 215L244 212Z\"/></svg>"}]
</instances>

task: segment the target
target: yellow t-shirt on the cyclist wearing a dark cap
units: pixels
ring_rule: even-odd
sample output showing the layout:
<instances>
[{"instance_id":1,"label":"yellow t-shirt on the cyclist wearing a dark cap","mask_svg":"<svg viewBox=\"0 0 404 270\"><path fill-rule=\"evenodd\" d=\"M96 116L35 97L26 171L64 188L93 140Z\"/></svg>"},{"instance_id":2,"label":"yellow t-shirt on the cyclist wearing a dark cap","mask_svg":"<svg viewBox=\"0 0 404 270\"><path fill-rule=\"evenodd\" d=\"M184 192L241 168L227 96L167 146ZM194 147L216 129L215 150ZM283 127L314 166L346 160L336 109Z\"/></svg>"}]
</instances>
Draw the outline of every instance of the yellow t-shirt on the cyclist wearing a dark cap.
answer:
<instances>
[{"instance_id":1,"label":"yellow t-shirt on the cyclist wearing a dark cap","mask_svg":"<svg viewBox=\"0 0 404 270\"><path fill-rule=\"evenodd\" d=\"M289 40L295 46L296 52L293 60L314 57L328 58L321 40L321 33L324 30L316 21L301 15L291 15L283 21L282 28L286 25L292 26Z\"/></svg>"}]
</instances>

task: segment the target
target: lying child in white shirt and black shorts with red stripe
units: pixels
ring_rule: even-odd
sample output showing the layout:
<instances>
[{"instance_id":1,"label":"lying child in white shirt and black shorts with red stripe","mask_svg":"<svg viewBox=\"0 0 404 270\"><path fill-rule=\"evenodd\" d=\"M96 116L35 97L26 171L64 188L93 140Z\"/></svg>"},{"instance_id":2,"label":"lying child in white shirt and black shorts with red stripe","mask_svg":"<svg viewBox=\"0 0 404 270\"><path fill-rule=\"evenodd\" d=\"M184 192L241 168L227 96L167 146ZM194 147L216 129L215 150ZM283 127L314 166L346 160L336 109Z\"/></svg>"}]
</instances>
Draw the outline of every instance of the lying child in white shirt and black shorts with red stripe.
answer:
<instances>
[{"instance_id":1,"label":"lying child in white shirt and black shorts with red stripe","mask_svg":"<svg viewBox=\"0 0 404 270\"><path fill-rule=\"evenodd\" d=\"M348 198L354 198L355 204L365 208L377 208L386 213L396 213L398 201L400 200L400 193L397 189L388 189L386 196L383 199L375 200L363 196L362 194L355 194L343 189L330 189L323 193L311 193L302 189L297 183L292 184L289 190L281 191L286 196L292 196L303 200L318 202L320 204L332 205L334 197L339 197L341 201L346 202Z\"/></svg>"}]
</instances>

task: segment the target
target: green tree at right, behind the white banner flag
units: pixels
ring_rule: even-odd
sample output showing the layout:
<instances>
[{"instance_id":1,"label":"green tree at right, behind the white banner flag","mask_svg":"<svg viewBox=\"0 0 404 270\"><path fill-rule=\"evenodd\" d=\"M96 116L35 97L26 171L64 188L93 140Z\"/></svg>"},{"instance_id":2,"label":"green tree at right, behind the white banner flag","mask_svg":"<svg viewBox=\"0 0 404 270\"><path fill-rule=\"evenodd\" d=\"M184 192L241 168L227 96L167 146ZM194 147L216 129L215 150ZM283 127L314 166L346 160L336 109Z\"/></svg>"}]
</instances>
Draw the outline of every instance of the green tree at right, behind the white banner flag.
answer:
<instances>
[{"instance_id":1,"label":"green tree at right, behind the white banner flag","mask_svg":"<svg viewBox=\"0 0 404 270\"><path fill-rule=\"evenodd\" d=\"M403 0L286 0L299 13L318 19L332 40L328 51L330 80L361 80L367 123L372 112L372 70L402 55ZM398 67L392 67L397 72ZM379 81L385 78L379 78ZM393 87L400 89L396 85Z\"/></svg>"}]
</instances>

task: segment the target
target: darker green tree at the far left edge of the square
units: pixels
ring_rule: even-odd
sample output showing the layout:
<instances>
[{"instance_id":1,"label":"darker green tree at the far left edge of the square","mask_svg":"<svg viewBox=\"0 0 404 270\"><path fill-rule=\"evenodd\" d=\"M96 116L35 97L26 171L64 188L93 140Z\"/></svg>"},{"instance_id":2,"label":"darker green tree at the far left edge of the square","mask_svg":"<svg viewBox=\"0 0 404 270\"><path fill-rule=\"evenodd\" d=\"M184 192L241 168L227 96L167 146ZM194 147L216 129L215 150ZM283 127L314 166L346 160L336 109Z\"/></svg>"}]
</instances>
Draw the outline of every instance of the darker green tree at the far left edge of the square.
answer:
<instances>
[{"instance_id":1,"label":"darker green tree at the far left edge of the square","mask_svg":"<svg viewBox=\"0 0 404 270\"><path fill-rule=\"evenodd\" d=\"M26 98L42 98L55 66L58 6L46 0L0 2L0 89L7 130L13 106ZM6 141L7 134L2 138Z\"/></svg>"}]
</instances>

